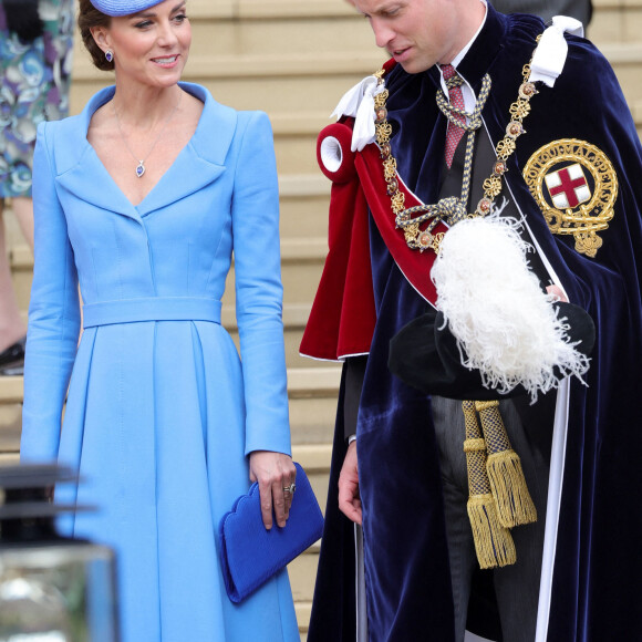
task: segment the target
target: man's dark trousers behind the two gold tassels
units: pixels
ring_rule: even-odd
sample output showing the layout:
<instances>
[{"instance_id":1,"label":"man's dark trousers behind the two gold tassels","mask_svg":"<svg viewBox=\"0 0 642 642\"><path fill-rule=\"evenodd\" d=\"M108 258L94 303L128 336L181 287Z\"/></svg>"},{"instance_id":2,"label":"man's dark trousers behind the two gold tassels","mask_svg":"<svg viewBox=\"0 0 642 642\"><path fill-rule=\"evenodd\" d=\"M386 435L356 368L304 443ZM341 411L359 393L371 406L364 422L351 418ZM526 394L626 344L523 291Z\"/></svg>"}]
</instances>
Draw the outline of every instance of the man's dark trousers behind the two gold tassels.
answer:
<instances>
[{"instance_id":1,"label":"man's dark trousers behind the two gold tassels","mask_svg":"<svg viewBox=\"0 0 642 642\"><path fill-rule=\"evenodd\" d=\"M511 529L517 563L495 569L504 642L532 642L537 623L541 552L546 522L549 457L537 439L529 438L511 400L500 402L504 425L521 466L537 508L535 524ZM464 414L462 402L433 397L433 421L439 445L442 477L453 598L455 602L455 640L462 642L466 630L473 572L478 568L468 521L468 476L464 454ZM532 426L529 426L532 429ZM550 426L542 427L549 431Z\"/></svg>"}]
</instances>

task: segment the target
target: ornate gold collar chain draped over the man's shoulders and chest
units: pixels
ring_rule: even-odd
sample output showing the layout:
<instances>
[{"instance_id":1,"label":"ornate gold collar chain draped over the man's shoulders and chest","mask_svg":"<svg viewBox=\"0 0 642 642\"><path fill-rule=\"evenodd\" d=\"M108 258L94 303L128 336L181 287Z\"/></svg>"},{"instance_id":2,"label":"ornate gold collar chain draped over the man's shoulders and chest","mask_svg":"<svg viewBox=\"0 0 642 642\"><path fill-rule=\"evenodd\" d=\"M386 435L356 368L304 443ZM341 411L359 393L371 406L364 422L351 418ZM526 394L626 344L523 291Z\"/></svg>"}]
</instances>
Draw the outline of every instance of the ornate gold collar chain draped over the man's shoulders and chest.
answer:
<instances>
[{"instance_id":1,"label":"ornate gold collar chain draped over the man's shoulders and chest","mask_svg":"<svg viewBox=\"0 0 642 642\"><path fill-rule=\"evenodd\" d=\"M493 166L493 173L488 178L486 178L486 180L484 180L484 197L477 204L475 213L467 215L469 218L475 216L486 216L493 210L494 200L501 191L501 177L508 170L507 161L517 147L516 139L526 132L522 121L530 113L530 99L537 94L538 91L534 83L528 82L528 77L530 76L530 62L524 65L521 73L524 82L519 86L519 97L510 105L510 122L506 126L504 138L499 141L495 148L497 161ZM379 79L380 85L385 84L383 79L384 74L385 70L383 69L374 74ZM437 95L443 97L441 89L437 91ZM396 158L392 155L392 148L390 145L392 125L387 122L387 110L385 106L387 97L389 91L386 89L374 96L375 136L381 158L383 161L384 178L387 185L386 191L391 199L392 211L395 215L395 226L403 229L406 244L411 249L424 251L425 249L432 248L435 252L438 252L444 235L443 232L433 235L433 228L438 220L442 220L444 214L448 216L451 210L457 208L460 209L462 207L465 211L467 206L466 203L460 203L460 199L451 197L442 199L436 206L420 205L407 209L405 208L405 195L398 188L400 180L396 172ZM469 132L468 136L473 137L474 133ZM443 204L442 207L439 207L441 204ZM453 221L456 222L460 218L462 217L455 217ZM420 225L427 219L432 220L427 228L422 230Z\"/></svg>"}]
</instances>

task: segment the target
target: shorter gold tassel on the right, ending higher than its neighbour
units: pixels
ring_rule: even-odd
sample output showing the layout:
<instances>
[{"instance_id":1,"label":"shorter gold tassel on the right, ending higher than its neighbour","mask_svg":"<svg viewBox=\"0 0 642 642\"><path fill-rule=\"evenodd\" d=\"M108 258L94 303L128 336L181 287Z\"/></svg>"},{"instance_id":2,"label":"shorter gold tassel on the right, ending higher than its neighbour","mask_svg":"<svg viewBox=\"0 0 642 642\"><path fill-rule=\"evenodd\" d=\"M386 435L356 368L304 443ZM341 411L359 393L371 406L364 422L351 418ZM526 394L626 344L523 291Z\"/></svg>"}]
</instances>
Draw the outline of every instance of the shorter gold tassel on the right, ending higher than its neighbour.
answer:
<instances>
[{"instance_id":1,"label":"shorter gold tassel on the right, ending higher than its neighbour","mask_svg":"<svg viewBox=\"0 0 642 642\"><path fill-rule=\"evenodd\" d=\"M479 413L489 453L486 469L499 522L512 528L537 521L537 509L528 493L519 455L510 447L499 402L475 402L475 410Z\"/></svg>"}]
</instances>

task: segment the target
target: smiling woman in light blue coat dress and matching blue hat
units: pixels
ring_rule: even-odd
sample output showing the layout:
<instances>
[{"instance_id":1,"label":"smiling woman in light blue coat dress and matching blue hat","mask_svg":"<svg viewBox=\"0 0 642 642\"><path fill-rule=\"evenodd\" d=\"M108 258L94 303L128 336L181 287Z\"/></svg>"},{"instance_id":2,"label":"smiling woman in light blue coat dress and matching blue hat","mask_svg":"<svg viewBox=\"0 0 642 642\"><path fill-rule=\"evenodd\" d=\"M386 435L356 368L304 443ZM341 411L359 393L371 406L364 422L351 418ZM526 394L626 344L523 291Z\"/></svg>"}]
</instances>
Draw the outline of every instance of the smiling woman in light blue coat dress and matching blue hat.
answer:
<instances>
[{"instance_id":1,"label":"smiling woman in light blue coat dress and matching blue hat","mask_svg":"<svg viewBox=\"0 0 642 642\"><path fill-rule=\"evenodd\" d=\"M21 456L100 507L66 528L117 552L123 642L298 640L286 571L232 604L215 537L255 479L283 526L296 475L269 121L178 84L183 0L81 0L79 22L116 83L38 131Z\"/></svg>"}]
</instances>

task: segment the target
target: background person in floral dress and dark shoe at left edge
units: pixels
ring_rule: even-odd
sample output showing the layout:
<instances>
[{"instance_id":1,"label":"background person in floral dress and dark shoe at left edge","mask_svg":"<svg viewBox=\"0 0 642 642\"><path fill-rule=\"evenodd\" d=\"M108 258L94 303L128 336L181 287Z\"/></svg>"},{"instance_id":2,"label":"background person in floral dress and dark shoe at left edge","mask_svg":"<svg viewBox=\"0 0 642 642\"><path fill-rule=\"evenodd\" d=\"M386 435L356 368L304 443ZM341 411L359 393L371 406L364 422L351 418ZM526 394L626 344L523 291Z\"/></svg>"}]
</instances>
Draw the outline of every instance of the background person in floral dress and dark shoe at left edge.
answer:
<instances>
[{"instance_id":1,"label":"background person in floral dress and dark shoe at left edge","mask_svg":"<svg viewBox=\"0 0 642 642\"><path fill-rule=\"evenodd\" d=\"M69 112L73 0L0 1L0 374L22 374L25 325L7 256L8 199L33 249L35 131Z\"/></svg>"}]
</instances>

